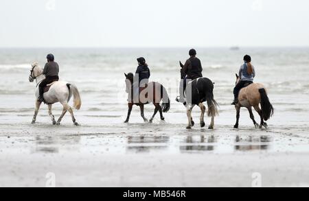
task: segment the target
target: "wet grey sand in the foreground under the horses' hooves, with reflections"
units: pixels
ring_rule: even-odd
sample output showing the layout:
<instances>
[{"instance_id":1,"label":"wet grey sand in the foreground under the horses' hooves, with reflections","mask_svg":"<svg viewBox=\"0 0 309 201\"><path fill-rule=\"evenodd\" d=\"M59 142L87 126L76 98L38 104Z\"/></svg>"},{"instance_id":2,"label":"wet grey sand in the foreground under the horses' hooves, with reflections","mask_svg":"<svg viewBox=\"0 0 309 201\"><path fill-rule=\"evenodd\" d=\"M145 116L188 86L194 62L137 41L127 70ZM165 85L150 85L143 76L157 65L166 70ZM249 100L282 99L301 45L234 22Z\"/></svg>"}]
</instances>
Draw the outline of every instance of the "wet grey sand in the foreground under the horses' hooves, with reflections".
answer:
<instances>
[{"instance_id":1,"label":"wet grey sand in the foreground under the horses' hooves, with reflections","mask_svg":"<svg viewBox=\"0 0 309 201\"><path fill-rule=\"evenodd\" d=\"M40 118L1 124L1 187L45 187L49 172L56 187L251 187L256 173L263 187L309 186L304 126L255 130L243 117L235 130L223 117L215 130L185 130L185 123L141 123L135 113L135 123L102 117L114 123L73 127L69 117L62 126Z\"/></svg>"}]
</instances>

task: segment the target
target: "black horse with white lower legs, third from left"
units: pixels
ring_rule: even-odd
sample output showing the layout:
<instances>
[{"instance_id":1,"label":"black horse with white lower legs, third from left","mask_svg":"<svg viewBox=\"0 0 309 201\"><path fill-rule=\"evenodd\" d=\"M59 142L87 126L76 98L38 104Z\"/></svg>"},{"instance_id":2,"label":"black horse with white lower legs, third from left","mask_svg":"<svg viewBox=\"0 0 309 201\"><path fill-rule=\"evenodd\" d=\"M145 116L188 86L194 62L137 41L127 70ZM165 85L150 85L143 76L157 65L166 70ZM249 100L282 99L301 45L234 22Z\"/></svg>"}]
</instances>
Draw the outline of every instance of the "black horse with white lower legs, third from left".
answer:
<instances>
[{"instance_id":1,"label":"black horse with white lower legs, third from left","mask_svg":"<svg viewBox=\"0 0 309 201\"><path fill-rule=\"evenodd\" d=\"M185 72L183 72L183 64L180 62L181 66L181 79L185 78ZM189 90L190 91L189 91ZM185 107L187 108L187 119L188 125L187 129L191 129L194 126L194 121L192 119L192 109L194 106L198 105L201 108L201 127L205 127L204 115L205 106L203 102L207 102L208 106L208 117L211 117L211 123L209 129L214 129L214 117L218 114L218 104L214 99L214 83L208 78L198 78L192 80L187 84L185 90Z\"/></svg>"}]
</instances>

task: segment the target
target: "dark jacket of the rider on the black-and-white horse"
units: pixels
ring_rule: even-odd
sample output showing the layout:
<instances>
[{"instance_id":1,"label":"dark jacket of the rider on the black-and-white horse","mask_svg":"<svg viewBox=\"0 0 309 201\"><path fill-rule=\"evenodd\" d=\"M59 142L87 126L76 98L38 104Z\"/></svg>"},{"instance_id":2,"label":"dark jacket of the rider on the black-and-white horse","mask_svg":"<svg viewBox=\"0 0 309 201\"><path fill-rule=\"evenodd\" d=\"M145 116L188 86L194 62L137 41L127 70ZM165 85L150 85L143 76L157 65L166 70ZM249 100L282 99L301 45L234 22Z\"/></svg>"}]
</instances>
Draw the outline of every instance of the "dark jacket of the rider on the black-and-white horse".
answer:
<instances>
[{"instance_id":1,"label":"dark jacket of the rider on the black-and-white horse","mask_svg":"<svg viewBox=\"0 0 309 201\"><path fill-rule=\"evenodd\" d=\"M203 68L201 60L196 57L188 59L183 66L183 71L187 75L187 79L195 80L197 78L202 78Z\"/></svg>"}]
</instances>

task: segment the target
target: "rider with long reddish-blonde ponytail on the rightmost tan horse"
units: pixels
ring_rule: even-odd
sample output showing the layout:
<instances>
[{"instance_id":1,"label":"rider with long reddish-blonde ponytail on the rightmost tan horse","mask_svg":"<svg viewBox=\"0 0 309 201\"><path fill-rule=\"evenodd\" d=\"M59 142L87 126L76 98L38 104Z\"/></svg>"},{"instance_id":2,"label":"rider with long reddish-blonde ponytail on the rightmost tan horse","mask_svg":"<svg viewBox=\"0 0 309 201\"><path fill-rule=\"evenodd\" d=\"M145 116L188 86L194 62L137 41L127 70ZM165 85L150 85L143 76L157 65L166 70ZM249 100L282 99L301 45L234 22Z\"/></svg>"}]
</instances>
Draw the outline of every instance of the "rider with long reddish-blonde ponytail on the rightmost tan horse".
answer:
<instances>
[{"instance_id":1,"label":"rider with long reddish-blonde ponytail on the rightmost tan horse","mask_svg":"<svg viewBox=\"0 0 309 201\"><path fill-rule=\"evenodd\" d=\"M240 82L235 86L234 93L234 101L232 105L236 105L238 103L238 93L240 89L244 88L244 86L248 86L253 83L253 79L255 78L255 69L251 64L251 57L249 55L244 56L244 64L240 67L239 70Z\"/></svg>"}]
</instances>

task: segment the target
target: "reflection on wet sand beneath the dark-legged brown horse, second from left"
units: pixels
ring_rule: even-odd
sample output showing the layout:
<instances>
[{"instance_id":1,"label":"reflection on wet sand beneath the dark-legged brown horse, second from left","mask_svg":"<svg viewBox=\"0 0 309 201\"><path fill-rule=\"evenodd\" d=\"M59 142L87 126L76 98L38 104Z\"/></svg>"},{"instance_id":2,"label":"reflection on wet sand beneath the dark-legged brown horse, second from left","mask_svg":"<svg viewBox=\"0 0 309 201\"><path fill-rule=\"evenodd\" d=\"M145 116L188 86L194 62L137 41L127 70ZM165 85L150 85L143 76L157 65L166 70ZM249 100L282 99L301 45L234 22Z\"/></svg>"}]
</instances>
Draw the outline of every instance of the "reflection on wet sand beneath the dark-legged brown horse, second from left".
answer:
<instances>
[{"instance_id":1,"label":"reflection on wet sand beneath the dark-legged brown horse, second from left","mask_svg":"<svg viewBox=\"0 0 309 201\"><path fill-rule=\"evenodd\" d=\"M168 148L170 137L155 136L155 137L128 137L128 145L126 149L131 152L150 152L150 150L163 150Z\"/></svg>"}]
</instances>

